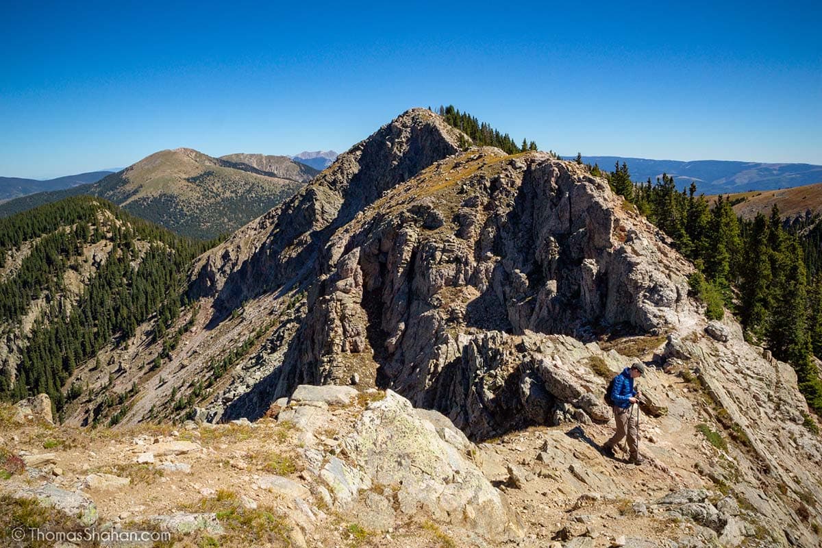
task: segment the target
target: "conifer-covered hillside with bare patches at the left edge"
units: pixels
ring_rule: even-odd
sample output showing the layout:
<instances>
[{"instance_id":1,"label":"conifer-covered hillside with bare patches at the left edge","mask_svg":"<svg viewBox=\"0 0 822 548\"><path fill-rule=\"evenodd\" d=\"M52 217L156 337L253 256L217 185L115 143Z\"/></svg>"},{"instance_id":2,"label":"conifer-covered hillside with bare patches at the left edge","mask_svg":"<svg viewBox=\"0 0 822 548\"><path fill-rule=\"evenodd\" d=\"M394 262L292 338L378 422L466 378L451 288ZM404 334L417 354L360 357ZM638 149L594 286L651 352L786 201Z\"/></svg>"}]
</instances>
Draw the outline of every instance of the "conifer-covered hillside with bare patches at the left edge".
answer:
<instances>
[{"instance_id":1,"label":"conifer-covered hillside with bare patches at the left edge","mask_svg":"<svg viewBox=\"0 0 822 548\"><path fill-rule=\"evenodd\" d=\"M179 315L182 273L209 244L170 233L106 200L76 196L0 220L0 398L48 394L104 345Z\"/></svg>"}]
</instances>

